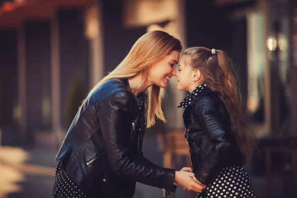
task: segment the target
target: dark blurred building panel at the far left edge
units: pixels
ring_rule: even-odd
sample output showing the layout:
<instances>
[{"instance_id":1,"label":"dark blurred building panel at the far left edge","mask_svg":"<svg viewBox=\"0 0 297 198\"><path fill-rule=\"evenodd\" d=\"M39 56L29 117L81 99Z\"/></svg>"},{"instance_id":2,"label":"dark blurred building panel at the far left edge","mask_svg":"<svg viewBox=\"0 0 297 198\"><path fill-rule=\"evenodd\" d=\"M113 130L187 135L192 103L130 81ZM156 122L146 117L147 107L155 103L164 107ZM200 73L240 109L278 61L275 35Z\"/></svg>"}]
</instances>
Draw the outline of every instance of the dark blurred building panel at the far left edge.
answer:
<instances>
[{"instance_id":1,"label":"dark blurred building panel at the far left edge","mask_svg":"<svg viewBox=\"0 0 297 198\"><path fill-rule=\"evenodd\" d=\"M17 31L0 30L0 145L17 142Z\"/></svg>"}]
</instances>

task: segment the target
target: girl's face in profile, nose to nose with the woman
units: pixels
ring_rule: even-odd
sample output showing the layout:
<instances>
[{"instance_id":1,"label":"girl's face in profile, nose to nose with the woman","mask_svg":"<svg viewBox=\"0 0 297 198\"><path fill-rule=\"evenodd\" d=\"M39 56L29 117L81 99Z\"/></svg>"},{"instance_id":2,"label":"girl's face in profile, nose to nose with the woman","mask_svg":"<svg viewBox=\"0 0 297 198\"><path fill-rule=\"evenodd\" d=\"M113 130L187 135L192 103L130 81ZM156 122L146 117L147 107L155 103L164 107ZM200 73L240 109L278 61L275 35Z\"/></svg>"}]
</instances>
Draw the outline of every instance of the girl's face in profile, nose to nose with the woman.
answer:
<instances>
[{"instance_id":1,"label":"girl's face in profile, nose to nose with the woman","mask_svg":"<svg viewBox=\"0 0 297 198\"><path fill-rule=\"evenodd\" d=\"M181 57L181 61L179 63L179 68L176 76L178 90L186 90L192 92L195 89L195 71L192 69L191 65L187 63L186 56Z\"/></svg>"}]
</instances>

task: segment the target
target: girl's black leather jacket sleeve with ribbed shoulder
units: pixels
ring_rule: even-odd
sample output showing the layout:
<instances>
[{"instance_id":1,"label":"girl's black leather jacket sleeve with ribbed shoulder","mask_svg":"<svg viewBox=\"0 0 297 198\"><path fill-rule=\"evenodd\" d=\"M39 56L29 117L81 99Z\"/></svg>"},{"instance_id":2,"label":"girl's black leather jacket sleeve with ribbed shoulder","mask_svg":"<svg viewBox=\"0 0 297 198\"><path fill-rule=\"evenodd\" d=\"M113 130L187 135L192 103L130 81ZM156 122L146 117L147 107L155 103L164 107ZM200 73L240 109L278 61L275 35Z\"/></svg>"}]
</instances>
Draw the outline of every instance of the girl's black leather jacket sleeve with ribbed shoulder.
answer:
<instances>
[{"instance_id":1,"label":"girl's black leather jacket sleeve with ribbed shoulder","mask_svg":"<svg viewBox=\"0 0 297 198\"><path fill-rule=\"evenodd\" d=\"M203 97L195 103L196 121L213 145L195 173L196 178L206 186L210 182L207 180L208 175L228 152L230 146L218 116L219 105L219 101L211 97Z\"/></svg>"}]
</instances>

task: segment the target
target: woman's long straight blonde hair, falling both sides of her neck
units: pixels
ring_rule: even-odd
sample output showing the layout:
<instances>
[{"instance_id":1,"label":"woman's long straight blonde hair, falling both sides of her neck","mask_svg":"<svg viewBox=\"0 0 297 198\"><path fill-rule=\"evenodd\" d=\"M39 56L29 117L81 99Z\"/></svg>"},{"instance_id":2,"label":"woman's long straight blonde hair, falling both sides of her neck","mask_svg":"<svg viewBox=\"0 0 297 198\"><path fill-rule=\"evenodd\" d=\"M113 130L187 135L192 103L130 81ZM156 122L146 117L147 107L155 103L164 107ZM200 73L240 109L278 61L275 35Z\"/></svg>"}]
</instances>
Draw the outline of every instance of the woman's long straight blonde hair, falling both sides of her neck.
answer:
<instances>
[{"instance_id":1,"label":"woman's long straight blonde hair, falling both sides of her neck","mask_svg":"<svg viewBox=\"0 0 297 198\"><path fill-rule=\"evenodd\" d=\"M149 65L159 61L171 51L182 50L181 42L163 31L151 31L140 37L122 62L107 76L105 76L89 93L92 94L102 83L112 78L130 79L142 75L142 82L131 88L136 90L145 85ZM161 109L160 87L152 85L147 90L146 119L148 128L154 125L155 116L166 122Z\"/></svg>"}]
</instances>

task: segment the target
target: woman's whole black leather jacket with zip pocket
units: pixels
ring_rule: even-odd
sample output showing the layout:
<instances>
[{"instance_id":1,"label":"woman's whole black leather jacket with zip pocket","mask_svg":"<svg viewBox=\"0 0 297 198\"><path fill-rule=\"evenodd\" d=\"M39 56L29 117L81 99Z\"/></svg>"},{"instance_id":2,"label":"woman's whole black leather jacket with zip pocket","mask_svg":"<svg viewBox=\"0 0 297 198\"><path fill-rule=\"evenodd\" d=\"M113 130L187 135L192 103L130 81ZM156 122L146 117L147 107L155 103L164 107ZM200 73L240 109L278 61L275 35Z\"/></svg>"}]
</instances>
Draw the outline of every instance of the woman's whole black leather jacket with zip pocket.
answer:
<instances>
[{"instance_id":1,"label":"woman's whole black leather jacket with zip pocket","mask_svg":"<svg viewBox=\"0 0 297 198\"><path fill-rule=\"evenodd\" d=\"M117 187L135 183L175 191L175 170L142 155L139 107L126 79L101 84L78 110L55 160L88 194L113 198Z\"/></svg>"}]
</instances>

